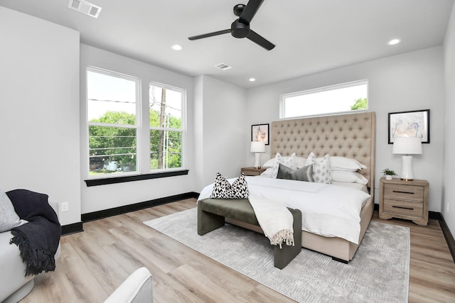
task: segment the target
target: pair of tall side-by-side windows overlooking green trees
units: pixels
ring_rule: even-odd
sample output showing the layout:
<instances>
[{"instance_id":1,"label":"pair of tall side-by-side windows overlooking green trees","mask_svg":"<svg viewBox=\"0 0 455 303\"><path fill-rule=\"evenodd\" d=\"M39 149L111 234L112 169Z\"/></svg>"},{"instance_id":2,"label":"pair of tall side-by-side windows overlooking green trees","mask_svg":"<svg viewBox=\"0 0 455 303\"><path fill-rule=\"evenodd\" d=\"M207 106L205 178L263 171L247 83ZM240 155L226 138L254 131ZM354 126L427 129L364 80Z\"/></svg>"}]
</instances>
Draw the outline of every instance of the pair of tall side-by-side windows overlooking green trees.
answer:
<instances>
[{"instance_id":1,"label":"pair of tall side-by-side windows overlooking green trees","mask_svg":"<svg viewBox=\"0 0 455 303\"><path fill-rule=\"evenodd\" d=\"M150 83L148 102L140 92L139 78L87 67L89 179L183 169L186 91Z\"/></svg>"}]
</instances>

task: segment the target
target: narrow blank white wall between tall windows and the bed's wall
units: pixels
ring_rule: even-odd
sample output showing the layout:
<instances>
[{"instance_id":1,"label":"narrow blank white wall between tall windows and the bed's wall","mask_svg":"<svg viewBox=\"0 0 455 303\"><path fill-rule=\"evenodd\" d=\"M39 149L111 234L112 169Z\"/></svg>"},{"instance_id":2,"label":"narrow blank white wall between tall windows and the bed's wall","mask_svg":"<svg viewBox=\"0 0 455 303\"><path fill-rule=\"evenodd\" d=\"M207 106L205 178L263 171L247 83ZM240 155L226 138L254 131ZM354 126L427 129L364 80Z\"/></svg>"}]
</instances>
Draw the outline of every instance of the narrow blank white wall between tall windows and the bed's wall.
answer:
<instances>
[{"instance_id":1,"label":"narrow blank white wall between tall windows and the bed's wall","mask_svg":"<svg viewBox=\"0 0 455 303\"><path fill-rule=\"evenodd\" d=\"M216 172L228 178L240 175L245 164L246 92L206 75L197 77L195 85L196 192L200 192L215 180Z\"/></svg>"}]
</instances>

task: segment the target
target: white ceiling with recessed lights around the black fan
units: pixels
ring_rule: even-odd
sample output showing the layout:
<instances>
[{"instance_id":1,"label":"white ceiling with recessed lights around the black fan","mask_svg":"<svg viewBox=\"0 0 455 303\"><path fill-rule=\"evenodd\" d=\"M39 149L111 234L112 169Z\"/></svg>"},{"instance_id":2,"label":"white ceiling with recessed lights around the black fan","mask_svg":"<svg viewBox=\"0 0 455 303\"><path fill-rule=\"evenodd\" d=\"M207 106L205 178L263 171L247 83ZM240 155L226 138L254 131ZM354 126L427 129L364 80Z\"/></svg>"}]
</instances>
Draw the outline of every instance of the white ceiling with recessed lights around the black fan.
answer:
<instances>
[{"instance_id":1,"label":"white ceiling with recessed lights around the black fan","mask_svg":"<svg viewBox=\"0 0 455 303\"><path fill-rule=\"evenodd\" d=\"M68 0L0 0L0 6L80 31L81 43L183 75L210 75L257 87L314 72L444 43L454 0L264 0L252 30L267 51L230 34L188 36L230 28L232 8L247 0L90 0L95 19L68 9ZM389 46L387 40L401 38ZM183 50L171 50L180 44ZM218 70L226 63L233 68ZM256 82L249 82L255 77Z\"/></svg>"}]
</instances>

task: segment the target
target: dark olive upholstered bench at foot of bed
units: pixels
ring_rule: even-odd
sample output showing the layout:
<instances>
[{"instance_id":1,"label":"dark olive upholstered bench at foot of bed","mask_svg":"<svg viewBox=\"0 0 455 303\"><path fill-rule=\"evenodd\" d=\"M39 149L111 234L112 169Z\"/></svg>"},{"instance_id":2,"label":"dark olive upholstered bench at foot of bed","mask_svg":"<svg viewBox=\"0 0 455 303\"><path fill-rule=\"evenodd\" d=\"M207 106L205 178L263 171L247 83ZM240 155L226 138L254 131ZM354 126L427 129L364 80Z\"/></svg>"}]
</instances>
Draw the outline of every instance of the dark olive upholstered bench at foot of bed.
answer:
<instances>
[{"instance_id":1,"label":"dark olive upholstered bench at foot of bed","mask_svg":"<svg viewBox=\"0 0 455 303\"><path fill-rule=\"evenodd\" d=\"M274 266L283 269L301 250L301 211L289 209L294 217L294 246L274 246ZM205 199L198 202L198 235L225 225L225 218L259 226L255 211L247 199Z\"/></svg>"}]
</instances>

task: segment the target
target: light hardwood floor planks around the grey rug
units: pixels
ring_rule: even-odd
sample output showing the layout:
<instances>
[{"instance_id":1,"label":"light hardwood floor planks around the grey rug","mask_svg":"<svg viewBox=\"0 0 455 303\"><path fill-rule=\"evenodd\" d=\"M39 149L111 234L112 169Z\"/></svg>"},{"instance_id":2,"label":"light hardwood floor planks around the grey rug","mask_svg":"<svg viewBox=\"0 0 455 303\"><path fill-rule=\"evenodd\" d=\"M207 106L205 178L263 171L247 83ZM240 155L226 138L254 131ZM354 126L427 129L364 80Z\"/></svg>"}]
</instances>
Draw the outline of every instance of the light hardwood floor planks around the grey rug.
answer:
<instances>
[{"instance_id":1,"label":"light hardwood floor planks around the grey rug","mask_svg":"<svg viewBox=\"0 0 455 303\"><path fill-rule=\"evenodd\" d=\"M63 236L55 272L36 277L21 302L103 302L130 273L153 274L154 302L294 302L142 224L196 207L195 199L87 222ZM455 302L455 263L438 221L410 227L410 302Z\"/></svg>"}]
</instances>

